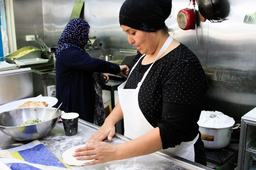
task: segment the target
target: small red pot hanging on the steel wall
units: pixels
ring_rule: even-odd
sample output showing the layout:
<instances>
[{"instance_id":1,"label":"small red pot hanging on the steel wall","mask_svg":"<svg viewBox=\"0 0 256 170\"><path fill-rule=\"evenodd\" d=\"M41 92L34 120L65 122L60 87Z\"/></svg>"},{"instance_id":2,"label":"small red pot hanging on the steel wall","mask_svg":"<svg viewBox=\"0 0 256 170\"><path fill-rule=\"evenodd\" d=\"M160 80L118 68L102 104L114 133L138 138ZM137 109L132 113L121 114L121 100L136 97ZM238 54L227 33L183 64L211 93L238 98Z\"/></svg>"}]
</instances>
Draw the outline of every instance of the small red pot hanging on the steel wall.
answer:
<instances>
[{"instance_id":1,"label":"small red pot hanging on the steel wall","mask_svg":"<svg viewBox=\"0 0 256 170\"><path fill-rule=\"evenodd\" d=\"M177 15L177 22L182 30L190 30L195 28L196 16L193 9L181 9Z\"/></svg>"}]
</instances>

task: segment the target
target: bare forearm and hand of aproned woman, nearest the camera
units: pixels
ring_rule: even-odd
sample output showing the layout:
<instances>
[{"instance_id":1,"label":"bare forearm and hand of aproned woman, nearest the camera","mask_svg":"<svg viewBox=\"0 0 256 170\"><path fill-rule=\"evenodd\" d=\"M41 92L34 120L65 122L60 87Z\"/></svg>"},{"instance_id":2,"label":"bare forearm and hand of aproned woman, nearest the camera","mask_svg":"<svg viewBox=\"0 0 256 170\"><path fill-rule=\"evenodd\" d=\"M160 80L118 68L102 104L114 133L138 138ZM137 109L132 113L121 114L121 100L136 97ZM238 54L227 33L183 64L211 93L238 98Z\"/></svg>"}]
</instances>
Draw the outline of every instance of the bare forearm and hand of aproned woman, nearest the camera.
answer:
<instances>
[{"instance_id":1,"label":"bare forearm and hand of aproned woman, nearest the camera","mask_svg":"<svg viewBox=\"0 0 256 170\"><path fill-rule=\"evenodd\" d=\"M87 144L84 147L76 149L72 156L76 157L77 160L95 159L94 161L83 164L83 166L88 166L147 155L160 149L162 149L162 140L159 127L156 127L134 140L118 145L111 145L102 141Z\"/></svg>"}]
</instances>

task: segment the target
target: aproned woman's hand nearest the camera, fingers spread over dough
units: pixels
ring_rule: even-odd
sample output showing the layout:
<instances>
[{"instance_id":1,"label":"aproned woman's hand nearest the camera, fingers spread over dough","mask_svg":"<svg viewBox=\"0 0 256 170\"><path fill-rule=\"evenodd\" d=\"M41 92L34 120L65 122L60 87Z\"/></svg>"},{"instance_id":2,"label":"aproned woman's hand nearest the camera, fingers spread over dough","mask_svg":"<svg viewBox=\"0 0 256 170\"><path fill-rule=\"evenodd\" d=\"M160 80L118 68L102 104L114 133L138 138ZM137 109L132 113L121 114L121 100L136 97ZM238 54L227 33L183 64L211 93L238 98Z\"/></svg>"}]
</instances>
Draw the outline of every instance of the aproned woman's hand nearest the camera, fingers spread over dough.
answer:
<instances>
[{"instance_id":1,"label":"aproned woman's hand nearest the camera, fingers spread over dough","mask_svg":"<svg viewBox=\"0 0 256 170\"><path fill-rule=\"evenodd\" d=\"M94 161L83 164L83 166L89 166L116 160L116 149L116 145L111 145L106 142L97 142L76 149L76 153L74 153L73 156L76 157L77 160L95 159Z\"/></svg>"}]
</instances>

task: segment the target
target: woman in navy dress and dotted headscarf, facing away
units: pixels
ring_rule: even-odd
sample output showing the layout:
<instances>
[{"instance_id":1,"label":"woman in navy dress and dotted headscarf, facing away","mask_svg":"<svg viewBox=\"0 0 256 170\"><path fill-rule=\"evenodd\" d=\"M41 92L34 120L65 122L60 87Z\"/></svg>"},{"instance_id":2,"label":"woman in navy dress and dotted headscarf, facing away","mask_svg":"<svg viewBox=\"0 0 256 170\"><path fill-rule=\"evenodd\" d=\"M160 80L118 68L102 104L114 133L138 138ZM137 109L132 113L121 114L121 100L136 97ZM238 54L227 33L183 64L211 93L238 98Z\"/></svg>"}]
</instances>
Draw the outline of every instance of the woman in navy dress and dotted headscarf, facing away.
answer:
<instances>
[{"instance_id":1,"label":"woman in navy dress and dotted headscarf, facing away","mask_svg":"<svg viewBox=\"0 0 256 170\"><path fill-rule=\"evenodd\" d=\"M93 72L126 76L126 65L93 58L84 47L88 42L89 24L74 18L67 23L56 48L56 98L60 110L76 112L79 118L94 122L95 90ZM126 69L126 72L122 72Z\"/></svg>"}]
</instances>

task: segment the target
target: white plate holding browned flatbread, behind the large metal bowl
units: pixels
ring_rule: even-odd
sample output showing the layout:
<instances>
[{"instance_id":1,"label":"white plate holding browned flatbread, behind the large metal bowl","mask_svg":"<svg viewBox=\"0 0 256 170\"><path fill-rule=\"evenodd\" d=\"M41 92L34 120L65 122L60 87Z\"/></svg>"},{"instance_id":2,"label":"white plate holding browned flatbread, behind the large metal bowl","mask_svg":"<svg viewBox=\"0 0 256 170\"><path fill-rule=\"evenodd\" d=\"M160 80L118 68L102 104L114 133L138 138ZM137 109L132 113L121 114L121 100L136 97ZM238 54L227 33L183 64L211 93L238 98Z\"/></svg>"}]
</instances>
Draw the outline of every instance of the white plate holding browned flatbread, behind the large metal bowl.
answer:
<instances>
[{"instance_id":1,"label":"white plate holding browned flatbread, behind the large metal bowl","mask_svg":"<svg viewBox=\"0 0 256 170\"><path fill-rule=\"evenodd\" d=\"M13 101L13 102L1 105L0 113L2 113L4 111L12 110L12 109L17 109L18 106L22 105L23 103L25 103L27 101L41 101L41 102L45 101L46 103L49 103L48 107L52 107L58 102L58 99L55 97L42 96L42 95L39 95L37 97L32 97L32 98L25 98L25 99Z\"/></svg>"}]
</instances>

